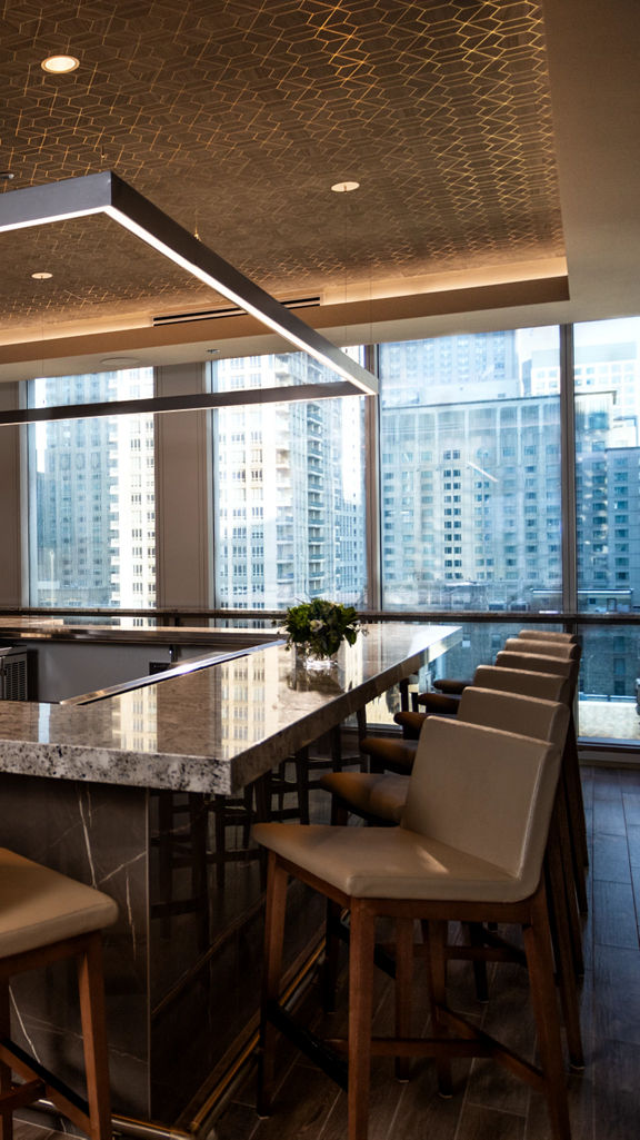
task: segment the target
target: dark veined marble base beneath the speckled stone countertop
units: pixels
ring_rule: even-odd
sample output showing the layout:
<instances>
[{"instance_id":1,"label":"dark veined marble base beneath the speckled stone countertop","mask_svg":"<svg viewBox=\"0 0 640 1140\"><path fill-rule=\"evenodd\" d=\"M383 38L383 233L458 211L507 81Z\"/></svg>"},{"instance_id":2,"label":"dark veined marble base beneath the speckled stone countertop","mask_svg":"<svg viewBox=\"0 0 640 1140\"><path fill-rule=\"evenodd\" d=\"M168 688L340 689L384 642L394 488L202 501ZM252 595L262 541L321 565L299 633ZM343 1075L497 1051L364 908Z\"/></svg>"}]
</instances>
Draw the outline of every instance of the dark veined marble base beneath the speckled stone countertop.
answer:
<instances>
[{"instance_id":1,"label":"dark veined marble base beneath the speckled stone countertop","mask_svg":"<svg viewBox=\"0 0 640 1140\"><path fill-rule=\"evenodd\" d=\"M0 775L0 845L118 904L105 931L113 1110L167 1127L184 1126L189 1101L259 1003L260 863L254 850L216 865L216 808L199 795ZM228 854L241 829L223 833ZM296 890L289 960L323 912L318 896ZM14 1040L83 1092L74 966L22 975L11 991Z\"/></svg>"}]
</instances>

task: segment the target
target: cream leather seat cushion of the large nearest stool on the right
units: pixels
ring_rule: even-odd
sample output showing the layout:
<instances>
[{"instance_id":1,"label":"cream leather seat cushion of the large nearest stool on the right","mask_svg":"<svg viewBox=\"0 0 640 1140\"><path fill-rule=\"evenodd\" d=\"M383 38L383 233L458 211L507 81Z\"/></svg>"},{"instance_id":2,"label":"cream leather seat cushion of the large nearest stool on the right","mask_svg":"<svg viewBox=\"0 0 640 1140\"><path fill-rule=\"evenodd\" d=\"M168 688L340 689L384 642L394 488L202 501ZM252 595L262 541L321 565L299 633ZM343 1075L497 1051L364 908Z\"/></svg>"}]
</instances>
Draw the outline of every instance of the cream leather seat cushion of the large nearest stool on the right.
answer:
<instances>
[{"instance_id":1,"label":"cream leather seat cushion of the large nearest stool on the right","mask_svg":"<svg viewBox=\"0 0 640 1140\"><path fill-rule=\"evenodd\" d=\"M516 902L518 878L485 860L407 828L334 828L257 823L270 850L353 898Z\"/></svg>"}]
</instances>

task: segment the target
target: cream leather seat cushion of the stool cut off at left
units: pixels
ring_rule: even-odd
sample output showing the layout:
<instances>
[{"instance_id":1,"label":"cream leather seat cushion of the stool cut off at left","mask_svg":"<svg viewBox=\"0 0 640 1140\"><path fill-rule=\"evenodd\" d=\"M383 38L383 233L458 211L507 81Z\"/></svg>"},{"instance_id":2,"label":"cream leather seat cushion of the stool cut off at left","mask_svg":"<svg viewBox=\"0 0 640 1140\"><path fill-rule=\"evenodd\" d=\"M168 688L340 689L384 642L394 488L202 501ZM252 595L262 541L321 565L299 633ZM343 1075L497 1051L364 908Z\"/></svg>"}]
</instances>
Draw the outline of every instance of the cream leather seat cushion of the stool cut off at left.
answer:
<instances>
[{"instance_id":1,"label":"cream leather seat cushion of the stool cut off at left","mask_svg":"<svg viewBox=\"0 0 640 1140\"><path fill-rule=\"evenodd\" d=\"M100 930L116 918L108 895L0 848L0 958Z\"/></svg>"}]
</instances>

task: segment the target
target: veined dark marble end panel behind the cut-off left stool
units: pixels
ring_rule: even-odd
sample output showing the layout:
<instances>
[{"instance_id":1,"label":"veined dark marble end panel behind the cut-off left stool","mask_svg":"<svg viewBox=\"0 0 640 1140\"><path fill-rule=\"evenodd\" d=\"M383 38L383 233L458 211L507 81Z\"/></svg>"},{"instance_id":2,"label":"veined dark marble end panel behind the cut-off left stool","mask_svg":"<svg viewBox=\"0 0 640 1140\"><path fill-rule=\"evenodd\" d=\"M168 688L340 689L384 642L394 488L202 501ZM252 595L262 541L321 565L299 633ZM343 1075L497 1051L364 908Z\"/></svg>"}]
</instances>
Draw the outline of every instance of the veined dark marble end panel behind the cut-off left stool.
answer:
<instances>
[{"instance_id":1,"label":"veined dark marble end panel behind the cut-off left stool","mask_svg":"<svg viewBox=\"0 0 640 1140\"><path fill-rule=\"evenodd\" d=\"M105 931L107 1032L114 1112L149 1114L147 796L142 789L0 775L0 844L110 895ZM15 1040L84 1091L73 963L17 977Z\"/></svg>"}]
</instances>

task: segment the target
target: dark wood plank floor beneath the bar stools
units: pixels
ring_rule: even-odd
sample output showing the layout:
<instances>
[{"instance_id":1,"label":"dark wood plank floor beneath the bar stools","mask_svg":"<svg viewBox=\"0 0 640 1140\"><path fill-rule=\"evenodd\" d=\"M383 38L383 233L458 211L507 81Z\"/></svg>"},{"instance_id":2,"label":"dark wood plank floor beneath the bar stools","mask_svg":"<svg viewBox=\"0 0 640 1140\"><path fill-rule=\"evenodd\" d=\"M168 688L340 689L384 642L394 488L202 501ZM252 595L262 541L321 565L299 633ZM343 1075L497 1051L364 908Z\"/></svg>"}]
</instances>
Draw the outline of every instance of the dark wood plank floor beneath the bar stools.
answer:
<instances>
[{"instance_id":1,"label":"dark wood plank floor beneath the bar stools","mask_svg":"<svg viewBox=\"0 0 640 1140\"><path fill-rule=\"evenodd\" d=\"M573 1140L640 1137L640 771L584 769L591 848L589 920L584 930L583 1076L569 1076ZM391 1028L391 985L380 977L376 1032ZM418 978L419 988L419 978ZM526 972L495 968L486 1005L475 1000L468 966L451 971L450 1001L489 1032L533 1056ZM315 994L307 1005L317 1008ZM342 1032L342 1016L318 1027ZM416 995L416 1031L426 1027L425 995ZM281 1086L269 1119L255 1114L255 1075L248 1074L215 1124L211 1140L344 1140L345 1096L288 1044ZM490 1061L459 1061L456 1094L442 1100L433 1062L416 1061L408 1084L393 1062L375 1060L369 1140L549 1140L541 1098ZM38 1130L42 1138L42 1131ZM36 1140L18 1126L16 1140Z\"/></svg>"}]
</instances>

